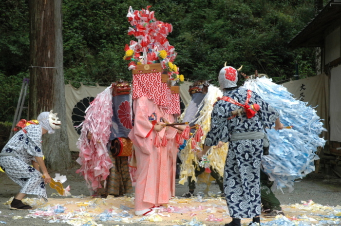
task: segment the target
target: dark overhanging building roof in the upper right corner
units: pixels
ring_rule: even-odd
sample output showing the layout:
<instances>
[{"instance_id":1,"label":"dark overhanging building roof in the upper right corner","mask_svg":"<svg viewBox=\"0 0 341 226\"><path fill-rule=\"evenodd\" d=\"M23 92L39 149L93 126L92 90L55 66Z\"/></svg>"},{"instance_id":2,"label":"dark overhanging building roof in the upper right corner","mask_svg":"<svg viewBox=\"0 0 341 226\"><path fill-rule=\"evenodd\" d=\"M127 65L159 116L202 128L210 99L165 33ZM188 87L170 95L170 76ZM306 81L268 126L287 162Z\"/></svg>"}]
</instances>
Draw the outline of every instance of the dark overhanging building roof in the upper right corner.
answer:
<instances>
[{"instance_id":1,"label":"dark overhanging building roof in the upper right corner","mask_svg":"<svg viewBox=\"0 0 341 226\"><path fill-rule=\"evenodd\" d=\"M290 40L289 47L322 47L325 29L333 21L340 18L341 0L330 0L319 11L319 14L311 19L302 31Z\"/></svg>"}]
</instances>

